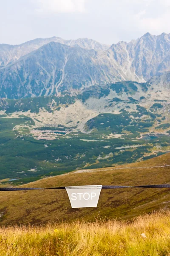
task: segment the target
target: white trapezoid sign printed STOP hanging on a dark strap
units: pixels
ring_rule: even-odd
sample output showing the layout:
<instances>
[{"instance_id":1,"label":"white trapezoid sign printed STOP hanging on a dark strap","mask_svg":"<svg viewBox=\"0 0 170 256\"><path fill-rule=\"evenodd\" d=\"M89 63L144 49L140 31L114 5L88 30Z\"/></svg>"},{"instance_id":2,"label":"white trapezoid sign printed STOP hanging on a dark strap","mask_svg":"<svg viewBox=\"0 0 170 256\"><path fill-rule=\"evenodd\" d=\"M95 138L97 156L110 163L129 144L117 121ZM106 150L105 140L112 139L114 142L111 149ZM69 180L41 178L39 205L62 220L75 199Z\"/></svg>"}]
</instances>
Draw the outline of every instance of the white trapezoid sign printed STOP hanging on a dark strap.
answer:
<instances>
[{"instance_id":1,"label":"white trapezoid sign printed STOP hanging on a dark strap","mask_svg":"<svg viewBox=\"0 0 170 256\"><path fill-rule=\"evenodd\" d=\"M97 207L102 185L65 187L72 208Z\"/></svg>"}]
</instances>

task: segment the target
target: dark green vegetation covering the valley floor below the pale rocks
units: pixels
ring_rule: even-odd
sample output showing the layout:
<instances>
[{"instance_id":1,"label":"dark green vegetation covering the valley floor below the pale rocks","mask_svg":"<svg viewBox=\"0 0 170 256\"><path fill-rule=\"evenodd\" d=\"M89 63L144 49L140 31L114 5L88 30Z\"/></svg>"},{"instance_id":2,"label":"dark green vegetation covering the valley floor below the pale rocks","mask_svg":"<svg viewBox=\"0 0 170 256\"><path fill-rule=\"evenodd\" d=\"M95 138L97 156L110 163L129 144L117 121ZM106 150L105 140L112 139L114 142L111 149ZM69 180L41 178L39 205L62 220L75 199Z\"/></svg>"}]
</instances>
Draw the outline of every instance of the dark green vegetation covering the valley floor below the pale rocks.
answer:
<instances>
[{"instance_id":1,"label":"dark green vegetation covering the valley floor below the pale rocks","mask_svg":"<svg viewBox=\"0 0 170 256\"><path fill-rule=\"evenodd\" d=\"M159 152L151 153L161 143L167 143L162 153L169 151L170 137L167 135L137 140L141 134L149 134L149 129L154 126L153 116L147 113L145 108L137 106L137 112L123 110L120 114L99 114L86 123L86 131L91 131L90 134L74 134L71 131L76 127L63 125L34 128L35 123L30 117L3 116L0 118L0 179L17 178L10 184L23 184L29 182L29 178L40 179L77 168L94 169L132 163L143 157L159 155ZM147 118L139 118L144 114ZM16 125L20 125L22 133ZM50 131L60 135L56 140L35 140L28 127L43 134ZM67 132L70 132L68 137L65 136Z\"/></svg>"}]
</instances>

